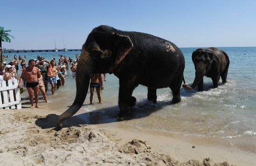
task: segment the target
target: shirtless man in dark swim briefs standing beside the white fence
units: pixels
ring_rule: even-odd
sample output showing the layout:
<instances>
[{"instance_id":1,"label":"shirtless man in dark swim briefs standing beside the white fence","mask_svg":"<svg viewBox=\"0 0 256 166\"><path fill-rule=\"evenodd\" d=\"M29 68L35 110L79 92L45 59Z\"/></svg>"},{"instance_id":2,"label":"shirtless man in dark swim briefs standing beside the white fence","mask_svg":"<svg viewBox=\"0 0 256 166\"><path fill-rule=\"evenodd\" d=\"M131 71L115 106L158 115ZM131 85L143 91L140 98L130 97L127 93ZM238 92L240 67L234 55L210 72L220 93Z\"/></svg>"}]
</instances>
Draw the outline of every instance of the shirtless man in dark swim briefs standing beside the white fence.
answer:
<instances>
[{"instance_id":1,"label":"shirtless man in dark swim briefs standing beside the white fence","mask_svg":"<svg viewBox=\"0 0 256 166\"><path fill-rule=\"evenodd\" d=\"M22 70L20 80L19 80L19 85L18 87L21 87L21 82L26 76L26 87L27 87L27 92L29 94L29 100L31 103L31 109L34 108L34 103L33 103L33 90L34 90L34 97L35 97L35 107L40 108L38 106L38 94L39 94L39 84L38 80L41 76L39 68L35 67L35 61L34 60L29 60L28 61L28 67Z\"/></svg>"}]
</instances>

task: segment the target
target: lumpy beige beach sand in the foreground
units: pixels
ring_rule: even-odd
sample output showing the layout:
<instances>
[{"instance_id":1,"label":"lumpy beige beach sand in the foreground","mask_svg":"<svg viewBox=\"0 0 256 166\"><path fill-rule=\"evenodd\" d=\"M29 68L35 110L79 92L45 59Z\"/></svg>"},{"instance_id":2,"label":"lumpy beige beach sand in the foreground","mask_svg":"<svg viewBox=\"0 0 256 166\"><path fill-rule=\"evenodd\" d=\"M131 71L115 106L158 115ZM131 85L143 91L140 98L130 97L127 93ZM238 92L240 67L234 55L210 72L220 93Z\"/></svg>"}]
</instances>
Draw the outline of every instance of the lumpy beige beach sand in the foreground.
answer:
<instances>
[{"instance_id":1,"label":"lumpy beige beach sand in the foreground","mask_svg":"<svg viewBox=\"0 0 256 166\"><path fill-rule=\"evenodd\" d=\"M122 122L86 125L73 117L57 129L60 109L49 110L56 103L29 109L29 103L22 102L21 110L0 110L1 166L252 166L256 162L255 153L214 139L140 131Z\"/></svg>"}]
</instances>

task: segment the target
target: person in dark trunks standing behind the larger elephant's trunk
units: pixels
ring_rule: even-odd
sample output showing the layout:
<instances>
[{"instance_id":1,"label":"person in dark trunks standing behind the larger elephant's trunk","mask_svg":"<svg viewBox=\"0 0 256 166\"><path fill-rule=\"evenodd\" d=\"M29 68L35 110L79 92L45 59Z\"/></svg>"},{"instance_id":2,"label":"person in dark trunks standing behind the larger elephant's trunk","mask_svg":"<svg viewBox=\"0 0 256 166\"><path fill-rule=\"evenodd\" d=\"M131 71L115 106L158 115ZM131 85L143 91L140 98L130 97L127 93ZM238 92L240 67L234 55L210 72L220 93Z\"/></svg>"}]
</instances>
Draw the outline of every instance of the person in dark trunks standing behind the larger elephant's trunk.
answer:
<instances>
[{"instance_id":1,"label":"person in dark trunks standing behind the larger elephant's trunk","mask_svg":"<svg viewBox=\"0 0 256 166\"><path fill-rule=\"evenodd\" d=\"M94 88L96 89L99 103L101 103L100 83L102 83L101 74L93 74L90 83L90 104L93 102Z\"/></svg>"}]
</instances>

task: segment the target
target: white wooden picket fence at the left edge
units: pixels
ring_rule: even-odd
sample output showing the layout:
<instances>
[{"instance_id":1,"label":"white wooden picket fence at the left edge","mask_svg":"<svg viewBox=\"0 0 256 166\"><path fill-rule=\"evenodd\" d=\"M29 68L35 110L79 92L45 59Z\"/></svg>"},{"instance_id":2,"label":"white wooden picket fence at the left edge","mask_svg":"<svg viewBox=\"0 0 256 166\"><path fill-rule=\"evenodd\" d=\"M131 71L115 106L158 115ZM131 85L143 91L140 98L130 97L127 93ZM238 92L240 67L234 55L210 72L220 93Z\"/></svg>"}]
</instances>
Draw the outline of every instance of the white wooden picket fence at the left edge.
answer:
<instances>
[{"instance_id":1,"label":"white wooden picket fence at the left edge","mask_svg":"<svg viewBox=\"0 0 256 166\"><path fill-rule=\"evenodd\" d=\"M21 109L20 89L18 88L18 80L8 80L8 86L6 81L0 82L0 109Z\"/></svg>"}]
</instances>

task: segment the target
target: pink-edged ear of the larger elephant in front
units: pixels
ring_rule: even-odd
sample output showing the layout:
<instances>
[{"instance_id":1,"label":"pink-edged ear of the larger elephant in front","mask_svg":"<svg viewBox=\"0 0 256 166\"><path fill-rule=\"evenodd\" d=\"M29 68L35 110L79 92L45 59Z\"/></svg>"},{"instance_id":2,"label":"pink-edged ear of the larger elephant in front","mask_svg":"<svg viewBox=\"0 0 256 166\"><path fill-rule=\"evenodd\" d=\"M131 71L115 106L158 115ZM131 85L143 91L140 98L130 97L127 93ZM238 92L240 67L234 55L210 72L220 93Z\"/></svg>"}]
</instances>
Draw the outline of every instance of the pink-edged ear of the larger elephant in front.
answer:
<instances>
[{"instance_id":1,"label":"pink-edged ear of the larger elephant in front","mask_svg":"<svg viewBox=\"0 0 256 166\"><path fill-rule=\"evenodd\" d=\"M115 65L118 65L133 48L128 36L112 33L113 51L115 52Z\"/></svg>"}]
</instances>

